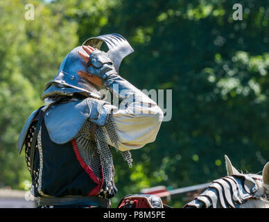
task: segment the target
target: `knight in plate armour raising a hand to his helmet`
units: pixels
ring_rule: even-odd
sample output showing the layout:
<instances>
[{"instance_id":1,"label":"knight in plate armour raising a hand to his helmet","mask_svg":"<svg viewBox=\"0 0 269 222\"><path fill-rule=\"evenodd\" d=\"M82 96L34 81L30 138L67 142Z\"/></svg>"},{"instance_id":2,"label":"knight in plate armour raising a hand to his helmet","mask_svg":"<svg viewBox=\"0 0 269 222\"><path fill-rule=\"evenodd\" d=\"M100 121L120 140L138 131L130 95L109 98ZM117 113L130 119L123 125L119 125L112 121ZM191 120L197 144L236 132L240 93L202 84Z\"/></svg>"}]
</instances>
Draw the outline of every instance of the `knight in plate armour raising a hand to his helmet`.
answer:
<instances>
[{"instance_id":1,"label":"knight in plate armour raising a hand to his helmet","mask_svg":"<svg viewBox=\"0 0 269 222\"><path fill-rule=\"evenodd\" d=\"M105 42L108 51L101 51ZM119 34L89 38L71 50L19 135L39 207L110 207L116 192L111 149L131 167L130 151L154 142L164 114L119 75L132 47ZM119 99L105 101L100 89Z\"/></svg>"}]
</instances>

